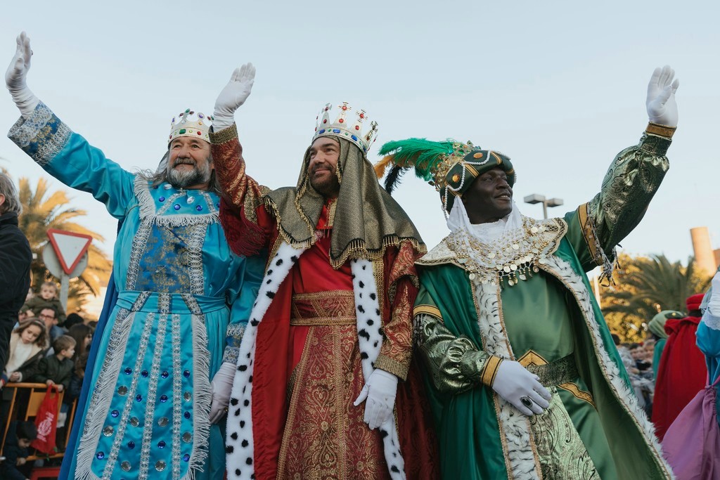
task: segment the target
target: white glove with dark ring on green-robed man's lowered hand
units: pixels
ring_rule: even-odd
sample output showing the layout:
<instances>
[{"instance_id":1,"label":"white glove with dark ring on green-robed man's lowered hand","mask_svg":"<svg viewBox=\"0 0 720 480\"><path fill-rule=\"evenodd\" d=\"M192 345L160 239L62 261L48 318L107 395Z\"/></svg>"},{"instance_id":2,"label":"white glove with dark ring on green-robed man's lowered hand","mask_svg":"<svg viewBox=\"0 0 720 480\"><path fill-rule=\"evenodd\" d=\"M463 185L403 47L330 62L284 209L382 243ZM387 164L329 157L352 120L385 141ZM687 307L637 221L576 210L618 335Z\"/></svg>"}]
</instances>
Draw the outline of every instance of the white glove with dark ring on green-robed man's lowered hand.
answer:
<instances>
[{"instance_id":1,"label":"white glove with dark ring on green-robed man's lowered hand","mask_svg":"<svg viewBox=\"0 0 720 480\"><path fill-rule=\"evenodd\" d=\"M534 413L540 415L550 406L550 392L539 380L539 376L530 373L520 363L503 360L498 366L498 373L495 373L492 389L523 415L531 417ZM523 399L527 405L523 404ZM528 402L528 399L531 402Z\"/></svg>"}]
</instances>

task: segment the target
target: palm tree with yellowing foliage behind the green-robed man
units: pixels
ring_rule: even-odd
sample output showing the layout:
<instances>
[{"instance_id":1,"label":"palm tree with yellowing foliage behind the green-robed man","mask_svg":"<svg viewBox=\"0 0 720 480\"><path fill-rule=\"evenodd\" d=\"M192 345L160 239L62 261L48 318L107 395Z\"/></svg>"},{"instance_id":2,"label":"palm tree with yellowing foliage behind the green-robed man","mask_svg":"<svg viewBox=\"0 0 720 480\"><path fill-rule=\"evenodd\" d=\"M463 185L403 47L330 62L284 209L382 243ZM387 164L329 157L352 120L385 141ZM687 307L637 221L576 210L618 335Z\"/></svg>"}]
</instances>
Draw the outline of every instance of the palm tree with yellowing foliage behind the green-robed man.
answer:
<instances>
[{"instance_id":1,"label":"palm tree with yellowing foliage behind the green-robed man","mask_svg":"<svg viewBox=\"0 0 720 480\"><path fill-rule=\"evenodd\" d=\"M615 285L603 289L600 307L610 330L624 342L642 341L647 336L647 322L657 312L685 312L685 299L706 291L712 278L696 269L693 257L683 266L665 255L647 258L621 253L618 263Z\"/></svg>"}]
</instances>

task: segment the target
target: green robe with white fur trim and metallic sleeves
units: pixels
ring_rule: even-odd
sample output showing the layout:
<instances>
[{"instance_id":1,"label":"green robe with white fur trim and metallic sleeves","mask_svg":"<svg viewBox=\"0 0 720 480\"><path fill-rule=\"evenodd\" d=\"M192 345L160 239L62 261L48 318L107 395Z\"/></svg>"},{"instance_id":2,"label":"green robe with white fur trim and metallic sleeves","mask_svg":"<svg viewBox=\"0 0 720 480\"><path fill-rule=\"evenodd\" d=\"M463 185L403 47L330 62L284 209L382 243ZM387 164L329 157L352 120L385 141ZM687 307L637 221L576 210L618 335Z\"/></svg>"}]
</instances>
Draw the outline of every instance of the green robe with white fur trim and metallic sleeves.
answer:
<instances>
[{"instance_id":1,"label":"green robe with white fur trim and metallic sleeves","mask_svg":"<svg viewBox=\"0 0 720 480\"><path fill-rule=\"evenodd\" d=\"M416 338L445 479L671 476L585 276L608 266L605 252L642 218L669 144L644 135L618 154L588 204L564 219L523 219L527 235L541 227L545 248L541 261L518 263L524 280L514 274L513 286L478 271L456 234L418 261ZM541 365L565 357L574 375L546 385L553 396L543 415L524 417L489 386L492 358Z\"/></svg>"}]
</instances>

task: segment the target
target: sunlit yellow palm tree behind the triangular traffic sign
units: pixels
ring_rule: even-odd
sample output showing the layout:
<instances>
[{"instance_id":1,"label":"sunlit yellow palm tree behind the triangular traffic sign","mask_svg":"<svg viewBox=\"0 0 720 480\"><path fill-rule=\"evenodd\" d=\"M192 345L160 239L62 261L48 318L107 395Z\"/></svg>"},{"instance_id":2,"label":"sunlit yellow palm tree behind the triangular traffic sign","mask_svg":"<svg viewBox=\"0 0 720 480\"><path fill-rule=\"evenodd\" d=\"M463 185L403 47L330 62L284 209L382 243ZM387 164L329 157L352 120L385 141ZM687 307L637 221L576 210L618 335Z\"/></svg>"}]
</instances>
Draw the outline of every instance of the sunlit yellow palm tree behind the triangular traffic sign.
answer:
<instances>
[{"instance_id":1,"label":"sunlit yellow palm tree behind the triangular traffic sign","mask_svg":"<svg viewBox=\"0 0 720 480\"><path fill-rule=\"evenodd\" d=\"M35 254L32 261L32 287L35 291L43 281L53 279L50 272L42 263L42 248L48 243L48 229L67 230L68 232L83 233L90 235L94 240L103 241L102 235L88 230L82 225L73 222L73 219L83 217L87 214L85 210L68 207L70 199L65 191L58 190L50 192L48 181L40 178L32 191L30 181L27 178L20 178L18 181L18 193L22 204L22 214L18 222L22 232L30 242L30 249ZM86 302L87 295L97 296L100 288L107 284L112 261L107 258L102 250L94 244L88 249L88 266L77 279L70 281L68 292L68 312L75 312L82 309Z\"/></svg>"}]
</instances>

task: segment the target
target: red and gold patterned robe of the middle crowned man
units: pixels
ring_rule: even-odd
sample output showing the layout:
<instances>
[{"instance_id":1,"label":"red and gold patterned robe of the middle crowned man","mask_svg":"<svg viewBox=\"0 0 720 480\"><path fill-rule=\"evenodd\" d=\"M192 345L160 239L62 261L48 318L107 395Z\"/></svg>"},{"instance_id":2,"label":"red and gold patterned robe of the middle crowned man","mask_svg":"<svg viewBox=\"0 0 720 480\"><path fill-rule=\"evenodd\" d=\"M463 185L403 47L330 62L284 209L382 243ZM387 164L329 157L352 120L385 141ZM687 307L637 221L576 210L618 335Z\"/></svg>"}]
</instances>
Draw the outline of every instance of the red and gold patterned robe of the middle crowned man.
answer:
<instances>
[{"instance_id":1,"label":"red and gold patterned robe of the middle crowned man","mask_svg":"<svg viewBox=\"0 0 720 480\"><path fill-rule=\"evenodd\" d=\"M225 189L220 219L230 247L241 255L257 253L259 248L276 248L279 245L276 219L260 201L262 187L245 175L238 140L212 145L212 156ZM305 478L316 473L323 474L323 478L388 476L379 431L369 430L362 421L364 403L352 405L364 385L356 348L356 325L290 325L293 295L353 289L349 265L338 270L330 266L332 227L328 220L331 221L326 204L316 226L322 232L320 238L300 255L258 325L252 389L253 463L258 479L294 474ZM399 248L388 247L382 261L374 262L377 290L382 295L384 331L375 366L400 378L395 406L408 479L435 479L438 457L430 410L419 371L415 363L410 363L412 312L418 292L414 266L417 256L413 246L406 242ZM339 340L331 345L328 338ZM305 374L301 379L293 378L304 350L310 350L305 348L308 341L312 349L305 354L304 370L300 369ZM344 398L331 404L323 397L323 392L333 388L326 371L330 371L328 364L338 356L342 357L342 368L349 371L342 376L331 374L344 382ZM306 363L310 364L307 368ZM302 396L302 401L297 401L297 395ZM325 417L338 418L336 409L341 410L342 421L331 421L330 427L336 432L344 429L344 438L323 435L328 430Z\"/></svg>"}]
</instances>

